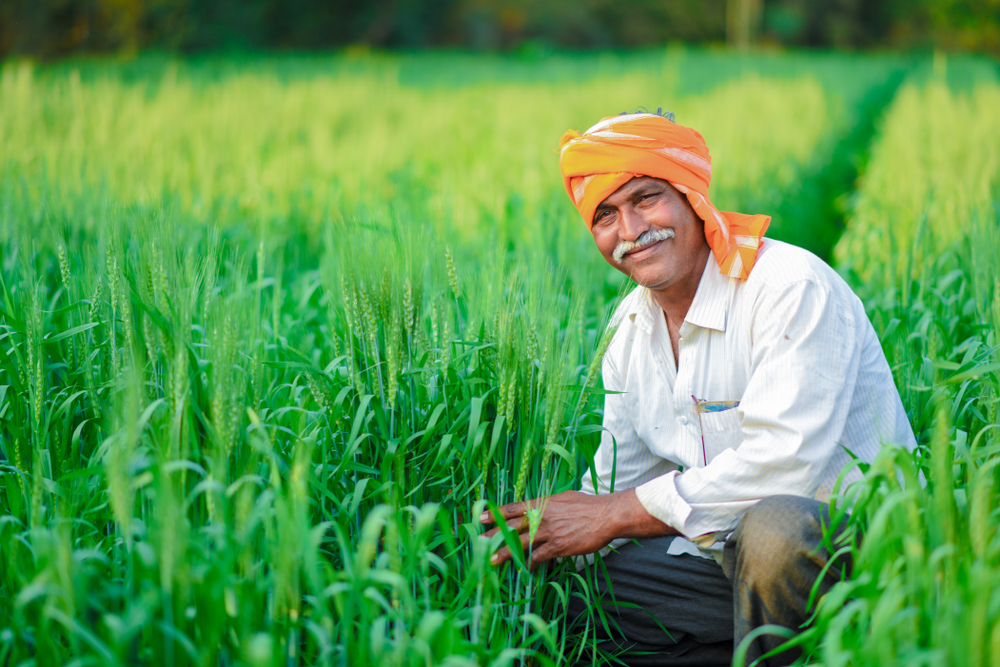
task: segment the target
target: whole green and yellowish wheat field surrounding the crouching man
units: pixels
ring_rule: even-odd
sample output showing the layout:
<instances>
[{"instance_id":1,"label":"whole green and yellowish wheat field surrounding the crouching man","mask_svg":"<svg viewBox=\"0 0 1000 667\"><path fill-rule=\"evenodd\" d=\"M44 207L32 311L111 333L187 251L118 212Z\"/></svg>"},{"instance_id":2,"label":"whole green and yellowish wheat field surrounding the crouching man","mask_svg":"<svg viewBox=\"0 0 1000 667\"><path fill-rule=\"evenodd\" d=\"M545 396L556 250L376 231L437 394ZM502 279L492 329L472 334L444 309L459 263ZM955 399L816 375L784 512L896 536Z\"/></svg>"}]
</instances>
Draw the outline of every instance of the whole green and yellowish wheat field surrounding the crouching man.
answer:
<instances>
[{"instance_id":1,"label":"whole green and yellowish wheat field surrounding the crouching man","mask_svg":"<svg viewBox=\"0 0 1000 667\"><path fill-rule=\"evenodd\" d=\"M555 149L658 106L920 443L840 489L806 660L1000 663L1000 68L672 48L0 63L0 667L613 663L474 518L588 474L629 286Z\"/></svg>"}]
</instances>

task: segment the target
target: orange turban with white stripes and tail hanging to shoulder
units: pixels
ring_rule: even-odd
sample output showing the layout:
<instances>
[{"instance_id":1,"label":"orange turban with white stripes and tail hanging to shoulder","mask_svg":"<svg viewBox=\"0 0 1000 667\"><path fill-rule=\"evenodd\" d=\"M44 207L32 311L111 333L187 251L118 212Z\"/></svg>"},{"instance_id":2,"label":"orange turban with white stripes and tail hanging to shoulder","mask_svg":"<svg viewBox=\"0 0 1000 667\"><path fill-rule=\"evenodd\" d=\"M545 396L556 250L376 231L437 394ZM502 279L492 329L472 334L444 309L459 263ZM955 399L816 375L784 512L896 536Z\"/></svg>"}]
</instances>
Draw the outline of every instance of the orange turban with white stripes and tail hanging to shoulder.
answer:
<instances>
[{"instance_id":1,"label":"orange turban with white stripes and tail hanging to shoulder","mask_svg":"<svg viewBox=\"0 0 1000 667\"><path fill-rule=\"evenodd\" d=\"M635 176L661 178L687 196L724 275L746 280L770 216L719 211L708 199L712 158L701 135L657 114L611 116L560 142L566 192L589 228L594 211Z\"/></svg>"}]
</instances>

